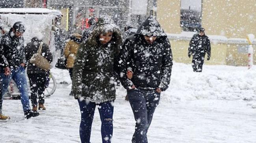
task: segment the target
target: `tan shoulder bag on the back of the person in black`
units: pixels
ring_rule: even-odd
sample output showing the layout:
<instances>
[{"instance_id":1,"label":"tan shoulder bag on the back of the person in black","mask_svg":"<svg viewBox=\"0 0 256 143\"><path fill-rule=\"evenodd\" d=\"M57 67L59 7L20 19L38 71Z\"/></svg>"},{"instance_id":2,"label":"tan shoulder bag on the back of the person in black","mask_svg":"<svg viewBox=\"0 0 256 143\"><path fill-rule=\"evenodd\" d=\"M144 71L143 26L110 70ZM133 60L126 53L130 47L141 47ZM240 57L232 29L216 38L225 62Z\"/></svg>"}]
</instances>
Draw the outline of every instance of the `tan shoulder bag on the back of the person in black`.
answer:
<instances>
[{"instance_id":1,"label":"tan shoulder bag on the back of the person in black","mask_svg":"<svg viewBox=\"0 0 256 143\"><path fill-rule=\"evenodd\" d=\"M40 43L37 53L34 53L34 55L31 57L29 62L31 64L35 64L38 68L41 68L42 70L45 70L48 72L50 70L50 62L41 55L42 47L43 47L43 42Z\"/></svg>"}]
</instances>

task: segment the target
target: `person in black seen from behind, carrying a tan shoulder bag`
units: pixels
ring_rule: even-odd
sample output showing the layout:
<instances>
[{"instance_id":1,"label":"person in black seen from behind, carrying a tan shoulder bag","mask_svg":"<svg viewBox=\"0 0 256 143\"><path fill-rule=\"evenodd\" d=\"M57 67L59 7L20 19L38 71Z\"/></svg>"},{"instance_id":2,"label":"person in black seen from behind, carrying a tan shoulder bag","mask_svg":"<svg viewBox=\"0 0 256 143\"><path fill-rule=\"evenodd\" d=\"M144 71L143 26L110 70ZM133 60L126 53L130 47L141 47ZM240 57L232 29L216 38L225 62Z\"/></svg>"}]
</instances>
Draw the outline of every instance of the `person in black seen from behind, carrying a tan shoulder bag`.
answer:
<instances>
[{"instance_id":1,"label":"person in black seen from behind, carrying a tan shoulder bag","mask_svg":"<svg viewBox=\"0 0 256 143\"><path fill-rule=\"evenodd\" d=\"M27 44L24 49L27 61L30 61L31 57L37 53L41 42L43 42L41 39L34 37L31 39L31 42ZM45 59L47 59L47 61L52 62L52 53L45 43L42 45L42 55L45 57ZM37 107L39 110L45 110L44 91L45 83L49 80L49 72L42 70L36 65L28 62L27 74L30 82L31 104L33 107L32 111L36 112ZM39 97L39 105L37 103L37 96Z\"/></svg>"}]
</instances>

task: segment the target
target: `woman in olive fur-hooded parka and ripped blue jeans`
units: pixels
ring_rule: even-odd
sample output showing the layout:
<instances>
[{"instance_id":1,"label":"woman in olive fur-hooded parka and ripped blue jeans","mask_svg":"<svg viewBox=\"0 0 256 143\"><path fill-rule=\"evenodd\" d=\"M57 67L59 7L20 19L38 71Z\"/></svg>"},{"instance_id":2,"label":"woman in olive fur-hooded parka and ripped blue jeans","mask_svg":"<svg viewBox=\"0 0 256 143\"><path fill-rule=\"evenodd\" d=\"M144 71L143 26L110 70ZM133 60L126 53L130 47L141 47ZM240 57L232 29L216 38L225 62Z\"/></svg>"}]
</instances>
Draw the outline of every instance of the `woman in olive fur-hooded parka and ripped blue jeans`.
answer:
<instances>
[{"instance_id":1,"label":"woman in olive fur-hooded parka and ripped blue jeans","mask_svg":"<svg viewBox=\"0 0 256 143\"><path fill-rule=\"evenodd\" d=\"M80 139L90 143L93 115L99 105L102 143L110 143L113 134L113 111L116 89L114 59L121 45L120 29L108 16L96 23L91 36L80 44L73 66L73 94L81 111ZM116 61L116 60L115 60Z\"/></svg>"}]
</instances>

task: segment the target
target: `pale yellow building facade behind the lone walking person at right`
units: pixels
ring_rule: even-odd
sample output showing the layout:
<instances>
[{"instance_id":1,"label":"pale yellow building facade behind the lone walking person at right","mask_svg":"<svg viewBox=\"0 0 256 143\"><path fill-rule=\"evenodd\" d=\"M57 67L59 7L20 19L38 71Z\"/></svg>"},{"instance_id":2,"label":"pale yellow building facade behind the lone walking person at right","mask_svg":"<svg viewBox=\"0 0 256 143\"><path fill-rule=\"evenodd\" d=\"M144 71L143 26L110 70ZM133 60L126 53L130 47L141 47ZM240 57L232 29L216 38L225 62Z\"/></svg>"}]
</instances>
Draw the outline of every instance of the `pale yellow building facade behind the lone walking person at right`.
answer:
<instances>
[{"instance_id":1,"label":"pale yellow building facade behind the lone walking person at right","mask_svg":"<svg viewBox=\"0 0 256 143\"><path fill-rule=\"evenodd\" d=\"M200 4L196 6L201 7L196 11L199 19L195 20L194 14L191 17L185 15L185 20L182 19L184 7L193 11L196 1ZM194 24L184 29L186 17ZM157 0L157 18L169 35L174 61L191 62L187 57L189 41L194 34L191 27L202 26L211 40L211 60L206 64L247 66L249 44L246 37L248 34L256 35L255 0ZM252 44L256 48L255 39ZM254 64L255 53L254 49Z\"/></svg>"}]
</instances>

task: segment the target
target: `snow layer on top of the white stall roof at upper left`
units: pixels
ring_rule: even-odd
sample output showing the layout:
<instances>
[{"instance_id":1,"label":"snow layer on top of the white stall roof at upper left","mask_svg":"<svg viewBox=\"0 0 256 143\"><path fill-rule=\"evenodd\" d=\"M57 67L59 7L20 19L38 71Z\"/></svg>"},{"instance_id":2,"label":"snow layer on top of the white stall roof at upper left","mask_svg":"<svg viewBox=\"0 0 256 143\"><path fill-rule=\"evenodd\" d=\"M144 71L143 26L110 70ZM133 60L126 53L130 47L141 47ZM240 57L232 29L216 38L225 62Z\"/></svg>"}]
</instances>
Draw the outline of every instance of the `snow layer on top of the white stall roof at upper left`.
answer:
<instances>
[{"instance_id":1,"label":"snow layer on top of the white stall roof at upper left","mask_svg":"<svg viewBox=\"0 0 256 143\"><path fill-rule=\"evenodd\" d=\"M46 8L0 8L0 13L16 13L16 14L53 14L53 15L62 15L58 10L46 9Z\"/></svg>"}]
</instances>

